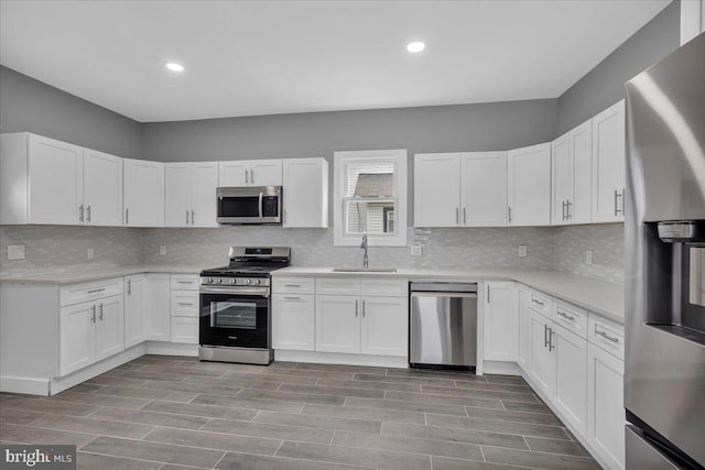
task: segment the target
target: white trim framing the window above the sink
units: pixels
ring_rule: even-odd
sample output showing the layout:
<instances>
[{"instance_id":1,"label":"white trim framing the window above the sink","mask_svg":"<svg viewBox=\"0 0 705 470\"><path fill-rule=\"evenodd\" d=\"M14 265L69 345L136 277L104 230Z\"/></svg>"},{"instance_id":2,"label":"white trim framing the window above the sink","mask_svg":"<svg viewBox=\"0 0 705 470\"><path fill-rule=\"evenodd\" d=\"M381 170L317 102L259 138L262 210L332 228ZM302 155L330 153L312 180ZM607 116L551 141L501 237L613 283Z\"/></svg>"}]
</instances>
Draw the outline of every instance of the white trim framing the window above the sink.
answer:
<instances>
[{"instance_id":1,"label":"white trim framing the window above the sink","mask_svg":"<svg viewBox=\"0 0 705 470\"><path fill-rule=\"evenodd\" d=\"M397 233L394 236L379 236L368 233L370 247L405 247L406 245L406 149L393 150L367 150L367 151L345 151L334 152L333 155L333 244L335 247L359 247L361 237L345 234L345 223L343 220L343 205L348 197L343 196L343 188L347 187L347 175L344 168L349 163L365 160L387 160L393 162L394 170L394 195L390 199L395 200L394 225ZM345 179L345 182L344 182Z\"/></svg>"}]
</instances>

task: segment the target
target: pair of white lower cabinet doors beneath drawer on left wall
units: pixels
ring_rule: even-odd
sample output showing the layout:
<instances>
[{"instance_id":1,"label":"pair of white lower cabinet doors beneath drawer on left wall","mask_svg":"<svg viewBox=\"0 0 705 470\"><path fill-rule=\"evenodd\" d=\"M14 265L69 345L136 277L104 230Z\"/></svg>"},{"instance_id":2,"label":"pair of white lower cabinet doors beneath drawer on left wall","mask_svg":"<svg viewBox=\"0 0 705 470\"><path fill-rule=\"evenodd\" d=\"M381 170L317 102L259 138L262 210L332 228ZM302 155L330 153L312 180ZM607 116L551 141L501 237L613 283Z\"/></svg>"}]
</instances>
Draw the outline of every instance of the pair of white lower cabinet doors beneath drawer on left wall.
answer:
<instances>
[{"instance_id":1,"label":"pair of white lower cabinet doors beneath drawer on left wall","mask_svg":"<svg viewBox=\"0 0 705 470\"><path fill-rule=\"evenodd\" d=\"M62 307L59 317L62 376L124 349L122 295Z\"/></svg>"}]
</instances>

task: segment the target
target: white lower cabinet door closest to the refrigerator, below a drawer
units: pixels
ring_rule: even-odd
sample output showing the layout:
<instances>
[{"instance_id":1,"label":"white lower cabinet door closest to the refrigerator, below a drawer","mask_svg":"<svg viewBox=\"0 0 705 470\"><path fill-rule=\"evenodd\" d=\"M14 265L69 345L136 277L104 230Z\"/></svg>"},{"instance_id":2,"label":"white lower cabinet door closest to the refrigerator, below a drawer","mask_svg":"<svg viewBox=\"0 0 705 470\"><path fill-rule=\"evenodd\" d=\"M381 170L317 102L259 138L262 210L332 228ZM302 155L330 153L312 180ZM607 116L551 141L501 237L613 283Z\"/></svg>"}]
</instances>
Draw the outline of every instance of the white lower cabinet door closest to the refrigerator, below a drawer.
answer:
<instances>
[{"instance_id":1,"label":"white lower cabinet door closest to the refrigerator, below a drawer","mask_svg":"<svg viewBox=\"0 0 705 470\"><path fill-rule=\"evenodd\" d=\"M611 469L625 468L625 363L587 346L587 441Z\"/></svg>"}]
</instances>

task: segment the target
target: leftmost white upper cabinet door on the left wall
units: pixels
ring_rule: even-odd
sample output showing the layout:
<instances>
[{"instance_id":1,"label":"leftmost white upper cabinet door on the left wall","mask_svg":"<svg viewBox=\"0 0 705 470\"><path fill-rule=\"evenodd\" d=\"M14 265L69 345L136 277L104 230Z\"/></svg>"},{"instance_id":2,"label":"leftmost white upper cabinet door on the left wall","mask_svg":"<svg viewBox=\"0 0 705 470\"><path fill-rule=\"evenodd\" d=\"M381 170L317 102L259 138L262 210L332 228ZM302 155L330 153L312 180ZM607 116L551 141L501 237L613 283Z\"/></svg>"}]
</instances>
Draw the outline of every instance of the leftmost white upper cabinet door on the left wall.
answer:
<instances>
[{"instance_id":1,"label":"leftmost white upper cabinet door on the left wall","mask_svg":"<svg viewBox=\"0 0 705 470\"><path fill-rule=\"evenodd\" d=\"M30 134L29 222L62 226L82 223L83 171L82 147Z\"/></svg>"}]
</instances>

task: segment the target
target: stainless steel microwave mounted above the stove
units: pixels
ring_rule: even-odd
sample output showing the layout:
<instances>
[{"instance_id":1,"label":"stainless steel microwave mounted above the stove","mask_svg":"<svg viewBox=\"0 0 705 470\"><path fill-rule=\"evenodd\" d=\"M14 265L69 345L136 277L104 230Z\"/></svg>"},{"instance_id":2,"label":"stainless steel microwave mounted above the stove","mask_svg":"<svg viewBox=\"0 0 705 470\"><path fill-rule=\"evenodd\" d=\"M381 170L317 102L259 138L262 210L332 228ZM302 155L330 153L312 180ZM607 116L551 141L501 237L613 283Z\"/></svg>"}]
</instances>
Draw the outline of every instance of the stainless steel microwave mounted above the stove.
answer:
<instances>
[{"instance_id":1,"label":"stainless steel microwave mounted above the stove","mask_svg":"<svg viewBox=\"0 0 705 470\"><path fill-rule=\"evenodd\" d=\"M280 225L282 187L219 187L216 189L217 222L223 225Z\"/></svg>"}]
</instances>

